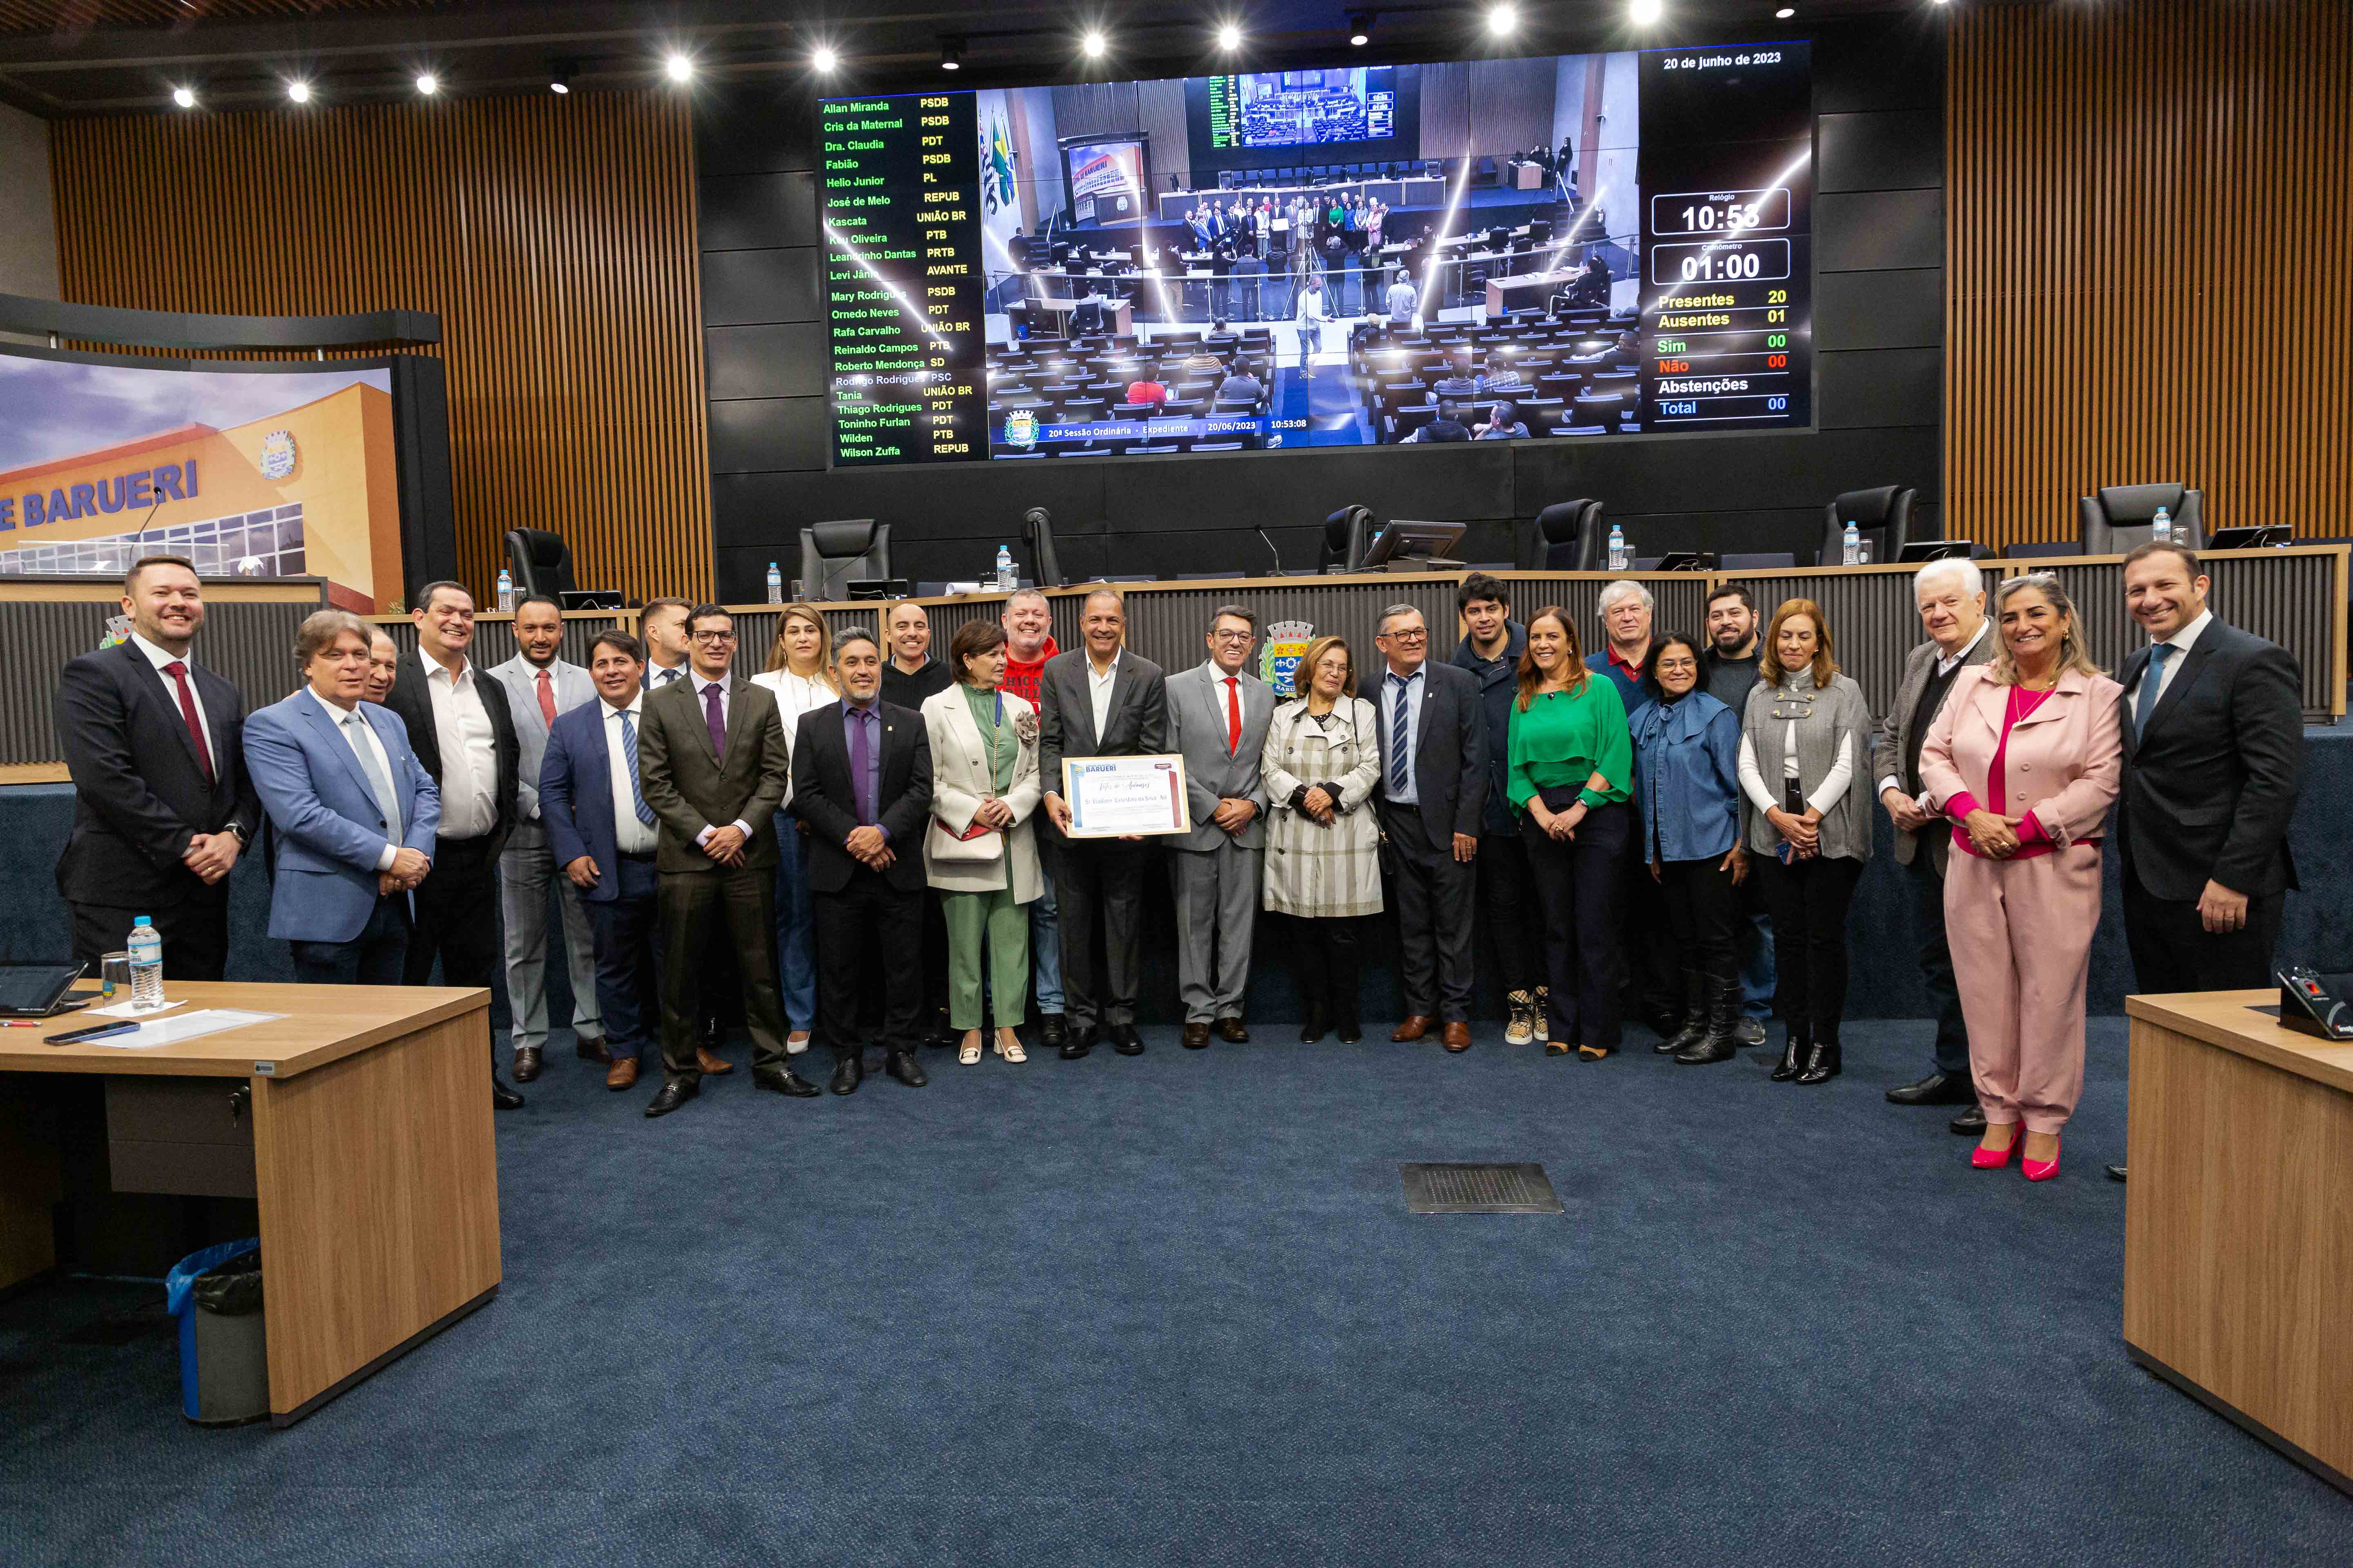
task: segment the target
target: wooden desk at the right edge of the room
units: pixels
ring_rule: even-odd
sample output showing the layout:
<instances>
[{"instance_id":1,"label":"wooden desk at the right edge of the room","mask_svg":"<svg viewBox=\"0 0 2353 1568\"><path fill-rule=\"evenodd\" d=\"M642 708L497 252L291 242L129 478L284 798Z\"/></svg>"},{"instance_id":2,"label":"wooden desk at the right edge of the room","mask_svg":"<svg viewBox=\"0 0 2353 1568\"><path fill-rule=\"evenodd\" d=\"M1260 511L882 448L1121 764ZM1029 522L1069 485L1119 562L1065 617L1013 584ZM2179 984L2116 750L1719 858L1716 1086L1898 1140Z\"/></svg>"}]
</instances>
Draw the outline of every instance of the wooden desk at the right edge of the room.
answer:
<instances>
[{"instance_id":1,"label":"wooden desk at the right edge of the room","mask_svg":"<svg viewBox=\"0 0 2353 1568\"><path fill-rule=\"evenodd\" d=\"M2353 1493L2353 1044L2127 997L2125 1349Z\"/></svg>"}]
</instances>

